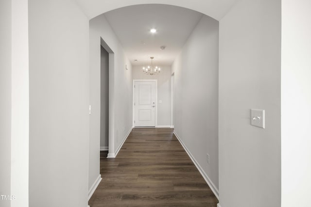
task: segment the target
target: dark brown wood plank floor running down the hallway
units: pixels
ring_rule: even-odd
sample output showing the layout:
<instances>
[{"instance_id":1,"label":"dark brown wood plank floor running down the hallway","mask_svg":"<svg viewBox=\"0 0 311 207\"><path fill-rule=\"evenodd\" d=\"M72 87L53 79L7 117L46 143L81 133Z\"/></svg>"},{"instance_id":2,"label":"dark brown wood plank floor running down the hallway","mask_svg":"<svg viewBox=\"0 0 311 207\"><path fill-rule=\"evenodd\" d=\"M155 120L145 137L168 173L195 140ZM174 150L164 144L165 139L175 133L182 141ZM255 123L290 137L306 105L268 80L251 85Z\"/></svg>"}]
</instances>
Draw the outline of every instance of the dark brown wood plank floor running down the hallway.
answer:
<instances>
[{"instance_id":1,"label":"dark brown wood plank floor running down the hallway","mask_svg":"<svg viewBox=\"0 0 311 207\"><path fill-rule=\"evenodd\" d=\"M134 128L117 158L101 152L90 207L216 207L218 200L170 128Z\"/></svg>"}]
</instances>

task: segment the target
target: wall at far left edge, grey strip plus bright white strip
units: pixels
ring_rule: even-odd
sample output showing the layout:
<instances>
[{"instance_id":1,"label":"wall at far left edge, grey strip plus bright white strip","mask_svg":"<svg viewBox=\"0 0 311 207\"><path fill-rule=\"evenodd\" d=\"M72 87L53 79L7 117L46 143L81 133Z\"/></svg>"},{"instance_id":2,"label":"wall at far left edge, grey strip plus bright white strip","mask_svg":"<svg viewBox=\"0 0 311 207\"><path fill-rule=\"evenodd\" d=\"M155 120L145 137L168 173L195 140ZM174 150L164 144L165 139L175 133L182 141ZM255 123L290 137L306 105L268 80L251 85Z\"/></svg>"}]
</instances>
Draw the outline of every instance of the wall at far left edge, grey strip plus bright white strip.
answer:
<instances>
[{"instance_id":1,"label":"wall at far left edge, grey strip plus bright white strip","mask_svg":"<svg viewBox=\"0 0 311 207\"><path fill-rule=\"evenodd\" d=\"M0 206L28 206L28 1L1 1Z\"/></svg>"}]
</instances>

